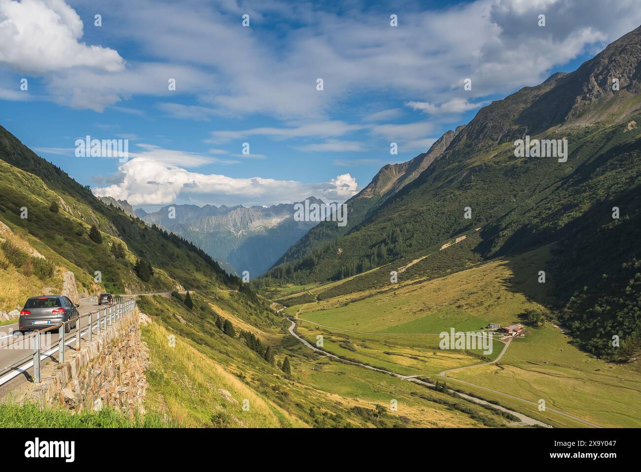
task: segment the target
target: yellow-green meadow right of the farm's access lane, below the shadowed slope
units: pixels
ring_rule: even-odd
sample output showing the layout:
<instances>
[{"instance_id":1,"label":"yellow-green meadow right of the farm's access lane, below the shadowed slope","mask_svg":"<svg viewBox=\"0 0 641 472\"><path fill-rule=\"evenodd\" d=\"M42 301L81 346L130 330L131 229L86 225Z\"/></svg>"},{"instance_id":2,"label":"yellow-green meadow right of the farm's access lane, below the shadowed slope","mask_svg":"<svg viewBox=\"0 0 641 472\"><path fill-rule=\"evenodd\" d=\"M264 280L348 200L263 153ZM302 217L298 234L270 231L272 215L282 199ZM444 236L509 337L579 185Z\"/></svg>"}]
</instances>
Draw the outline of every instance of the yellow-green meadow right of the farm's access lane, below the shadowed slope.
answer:
<instances>
[{"instance_id":1,"label":"yellow-green meadow right of the farm's access lane, below the shadowed slope","mask_svg":"<svg viewBox=\"0 0 641 472\"><path fill-rule=\"evenodd\" d=\"M579 351L551 325L515 339L499 366L473 367L449 376L535 403L545 400L550 408L599 426L641 426L638 415L631 414L641 410L638 367L603 362Z\"/></svg>"}]
</instances>

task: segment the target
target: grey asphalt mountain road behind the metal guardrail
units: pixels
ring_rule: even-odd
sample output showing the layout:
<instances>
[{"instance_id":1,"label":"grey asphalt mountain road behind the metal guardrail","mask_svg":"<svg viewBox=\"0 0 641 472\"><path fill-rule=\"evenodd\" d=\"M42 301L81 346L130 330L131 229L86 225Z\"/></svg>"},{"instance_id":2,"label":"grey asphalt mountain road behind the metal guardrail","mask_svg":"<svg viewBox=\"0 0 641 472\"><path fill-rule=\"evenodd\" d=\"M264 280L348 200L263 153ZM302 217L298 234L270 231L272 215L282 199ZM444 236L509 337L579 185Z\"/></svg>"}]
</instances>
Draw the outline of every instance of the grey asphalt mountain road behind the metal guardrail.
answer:
<instances>
[{"instance_id":1,"label":"grey asphalt mountain road behind the metal guardrail","mask_svg":"<svg viewBox=\"0 0 641 472\"><path fill-rule=\"evenodd\" d=\"M100 308L106 308L106 305L99 307L97 305L97 298L94 298L94 301L91 301L88 298L81 299L79 303L80 307L78 308L79 314L87 314L90 312L96 312ZM101 317L103 312L101 312ZM81 332L87 329L88 317L81 319L79 321L79 326ZM33 353L33 347L24 346L24 343L21 344L22 335L17 332L13 333L13 330L17 330L18 324L13 323L12 325L0 326L0 369L4 369L5 366L10 366L14 362L17 362L21 358ZM94 326L94 333L96 333L96 327ZM82 335L82 338L85 339L87 333ZM40 335L40 348L41 351L49 354L43 354L40 357L40 366L44 366L47 362L58 362L58 346L55 348L46 349L46 344L54 344L58 342L60 336L58 335L58 330L52 330L47 334ZM65 334L65 353L73 351L76 346L76 330L71 330L70 333ZM28 349L24 349L27 347ZM23 349L17 349L23 348ZM54 350L53 353L50 351ZM4 397L8 392L12 391L20 385L22 382L31 382L31 375L33 374L33 363L29 362L28 368L20 369L13 368L10 371L0 371L0 398Z\"/></svg>"}]
</instances>

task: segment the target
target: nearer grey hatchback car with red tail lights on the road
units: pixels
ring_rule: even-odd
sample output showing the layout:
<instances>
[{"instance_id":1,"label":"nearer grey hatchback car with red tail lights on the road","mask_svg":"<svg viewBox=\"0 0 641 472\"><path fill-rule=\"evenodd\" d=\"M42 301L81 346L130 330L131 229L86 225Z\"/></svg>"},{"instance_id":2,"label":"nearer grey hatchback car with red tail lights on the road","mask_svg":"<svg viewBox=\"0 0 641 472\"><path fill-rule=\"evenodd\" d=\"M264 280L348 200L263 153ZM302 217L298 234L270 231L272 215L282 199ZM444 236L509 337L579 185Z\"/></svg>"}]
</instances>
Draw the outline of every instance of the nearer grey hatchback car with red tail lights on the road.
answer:
<instances>
[{"instance_id":1,"label":"nearer grey hatchback car with red tail lights on the road","mask_svg":"<svg viewBox=\"0 0 641 472\"><path fill-rule=\"evenodd\" d=\"M42 295L31 297L24 304L18 320L19 330L21 332L38 330L47 326L57 325L69 321L79 316L78 308L80 305L74 305L72 301L64 295ZM69 333L71 328L76 327L74 323L65 325L65 333ZM70 325L73 326L70 326Z\"/></svg>"}]
</instances>

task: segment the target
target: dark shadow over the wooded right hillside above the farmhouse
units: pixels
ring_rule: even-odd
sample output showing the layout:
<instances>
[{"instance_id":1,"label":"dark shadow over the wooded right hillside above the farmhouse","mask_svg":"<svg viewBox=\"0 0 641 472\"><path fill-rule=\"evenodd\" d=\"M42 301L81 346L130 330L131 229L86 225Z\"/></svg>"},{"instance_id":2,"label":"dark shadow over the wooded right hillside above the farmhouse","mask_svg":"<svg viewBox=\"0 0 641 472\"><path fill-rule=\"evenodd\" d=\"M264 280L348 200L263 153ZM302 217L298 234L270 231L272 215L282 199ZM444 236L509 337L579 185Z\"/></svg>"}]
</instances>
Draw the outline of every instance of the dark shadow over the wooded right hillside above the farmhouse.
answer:
<instances>
[{"instance_id":1,"label":"dark shadow over the wooded right hillside above the farmhouse","mask_svg":"<svg viewBox=\"0 0 641 472\"><path fill-rule=\"evenodd\" d=\"M512 278L505 286L547 308L559 308L575 292L608 294L604 276L612 276L635 254L641 240L638 188L616 198L620 218L612 217L612 200L599 201L554 232L523 226L509 237L496 257L506 260ZM559 215L561 216L561 215ZM492 241L484 241L487 248ZM518 248L518 255L503 248ZM532 249L533 248L533 249ZM545 272L545 282L539 282Z\"/></svg>"}]
</instances>

